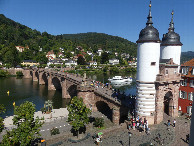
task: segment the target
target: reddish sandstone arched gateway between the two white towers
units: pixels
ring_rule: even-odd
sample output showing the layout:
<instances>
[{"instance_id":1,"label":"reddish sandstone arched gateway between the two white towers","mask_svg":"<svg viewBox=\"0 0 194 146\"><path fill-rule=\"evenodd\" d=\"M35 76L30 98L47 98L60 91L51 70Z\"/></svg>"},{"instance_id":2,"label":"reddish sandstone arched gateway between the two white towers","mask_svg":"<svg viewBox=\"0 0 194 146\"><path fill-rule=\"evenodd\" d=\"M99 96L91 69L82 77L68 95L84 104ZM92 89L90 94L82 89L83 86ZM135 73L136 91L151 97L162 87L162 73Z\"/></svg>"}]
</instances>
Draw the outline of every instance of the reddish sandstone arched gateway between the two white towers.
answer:
<instances>
[{"instance_id":1,"label":"reddish sandstone arched gateway between the two white towers","mask_svg":"<svg viewBox=\"0 0 194 146\"><path fill-rule=\"evenodd\" d=\"M160 64L160 73L157 75L155 82L155 124L163 121L164 113L172 117L178 116L180 79L178 65L174 64L172 59Z\"/></svg>"}]
</instances>

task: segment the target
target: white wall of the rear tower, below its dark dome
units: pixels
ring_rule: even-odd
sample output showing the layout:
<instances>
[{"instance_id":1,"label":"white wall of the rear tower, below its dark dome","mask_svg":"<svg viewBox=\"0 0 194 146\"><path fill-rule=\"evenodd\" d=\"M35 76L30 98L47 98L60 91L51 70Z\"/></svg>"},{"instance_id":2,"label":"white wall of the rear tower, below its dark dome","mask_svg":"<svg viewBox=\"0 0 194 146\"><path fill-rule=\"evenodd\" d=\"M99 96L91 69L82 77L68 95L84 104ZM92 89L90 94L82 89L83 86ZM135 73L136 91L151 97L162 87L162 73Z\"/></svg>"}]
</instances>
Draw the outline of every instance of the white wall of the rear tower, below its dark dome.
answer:
<instances>
[{"instance_id":1,"label":"white wall of the rear tower, below its dark dome","mask_svg":"<svg viewBox=\"0 0 194 146\"><path fill-rule=\"evenodd\" d=\"M180 66L181 46L161 46L161 59L173 58L173 62Z\"/></svg>"}]
</instances>

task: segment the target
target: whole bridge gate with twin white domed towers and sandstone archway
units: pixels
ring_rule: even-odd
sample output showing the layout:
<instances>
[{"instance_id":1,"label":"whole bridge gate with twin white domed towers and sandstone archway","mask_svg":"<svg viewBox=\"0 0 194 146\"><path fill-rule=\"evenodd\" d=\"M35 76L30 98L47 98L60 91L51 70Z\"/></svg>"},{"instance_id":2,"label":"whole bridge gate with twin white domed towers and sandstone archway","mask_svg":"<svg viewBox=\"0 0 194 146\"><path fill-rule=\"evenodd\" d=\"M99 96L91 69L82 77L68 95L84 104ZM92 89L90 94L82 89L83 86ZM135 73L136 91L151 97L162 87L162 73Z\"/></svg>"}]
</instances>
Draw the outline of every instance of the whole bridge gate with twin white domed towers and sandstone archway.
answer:
<instances>
[{"instance_id":1,"label":"whole bridge gate with twin white domed towers and sandstone archway","mask_svg":"<svg viewBox=\"0 0 194 146\"><path fill-rule=\"evenodd\" d=\"M182 43L180 36L174 32L173 14L169 31L161 41L158 30L153 27L150 2L146 27L141 30L137 40L135 113L146 118L149 124L160 123L164 113L178 116L180 55L177 52L181 51Z\"/></svg>"}]
</instances>

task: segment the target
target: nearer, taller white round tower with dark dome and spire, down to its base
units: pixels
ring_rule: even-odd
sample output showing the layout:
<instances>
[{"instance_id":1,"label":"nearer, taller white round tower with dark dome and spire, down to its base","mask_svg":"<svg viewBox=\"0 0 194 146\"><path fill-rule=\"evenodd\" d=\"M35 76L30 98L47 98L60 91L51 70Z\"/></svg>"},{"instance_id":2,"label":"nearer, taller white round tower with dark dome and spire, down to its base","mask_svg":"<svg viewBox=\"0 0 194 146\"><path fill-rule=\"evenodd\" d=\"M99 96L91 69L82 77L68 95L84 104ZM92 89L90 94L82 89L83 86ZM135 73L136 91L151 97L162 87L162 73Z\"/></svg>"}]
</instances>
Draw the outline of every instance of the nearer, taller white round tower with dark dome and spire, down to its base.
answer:
<instances>
[{"instance_id":1,"label":"nearer, taller white round tower with dark dome and spire, down to its base","mask_svg":"<svg viewBox=\"0 0 194 146\"><path fill-rule=\"evenodd\" d=\"M145 117L154 124L155 84L159 73L160 39L159 32L152 24L151 1L146 27L141 30L137 40L137 99L136 115Z\"/></svg>"}]
</instances>

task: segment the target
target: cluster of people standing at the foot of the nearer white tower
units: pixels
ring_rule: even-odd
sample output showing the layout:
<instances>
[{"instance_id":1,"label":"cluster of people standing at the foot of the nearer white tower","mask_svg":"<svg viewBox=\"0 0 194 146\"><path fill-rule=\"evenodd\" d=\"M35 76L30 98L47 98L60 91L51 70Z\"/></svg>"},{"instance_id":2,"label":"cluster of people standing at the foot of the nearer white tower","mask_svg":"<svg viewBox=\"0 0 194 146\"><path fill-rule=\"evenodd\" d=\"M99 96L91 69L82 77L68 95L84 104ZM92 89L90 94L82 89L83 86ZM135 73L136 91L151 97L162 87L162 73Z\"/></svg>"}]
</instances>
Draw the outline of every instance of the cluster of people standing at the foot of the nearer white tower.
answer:
<instances>
[{"instance_id":1,"label":"cluster of people standing at the foot of the nearer white tower","mask_svg":"<svg viewBox=\"0 0 194 146\"><path fill-rule=\"evenodd\" d=\"M148 120L146 118L140 118L139 115L136 118L129 119L128 128L130 129L137 129L139 132L146 132L147 134L150 132L150 128L148 127Z\"/></svg>"}]
</instances>

